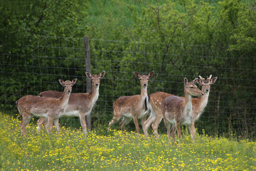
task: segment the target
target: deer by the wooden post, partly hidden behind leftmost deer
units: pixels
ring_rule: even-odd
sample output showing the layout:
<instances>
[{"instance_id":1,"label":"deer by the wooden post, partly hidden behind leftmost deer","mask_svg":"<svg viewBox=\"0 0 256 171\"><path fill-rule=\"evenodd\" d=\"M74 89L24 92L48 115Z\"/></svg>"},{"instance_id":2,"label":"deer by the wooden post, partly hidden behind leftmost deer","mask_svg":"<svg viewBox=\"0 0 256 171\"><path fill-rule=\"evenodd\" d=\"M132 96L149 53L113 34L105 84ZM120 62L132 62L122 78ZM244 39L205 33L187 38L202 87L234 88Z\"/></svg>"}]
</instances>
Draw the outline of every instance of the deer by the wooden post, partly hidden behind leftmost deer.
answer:
<instances>
[{"instance_id":1,"label":"deer by the wooden post, partly hidden behind leftmost deer","mask_svg":"<svg viewBox=\"0 0 256 171\"><path fill-rule=\"evenodd\" d=\"M87 127L85 122L85 116L89 115L93 106L95 105L98 97L99 97L99 88L100 88L100 79L105 76L105 71L102 71L100 75L91 75L90 73L85 73L88 78L92 80L92 90L90 93L71 93L70 100L68 101L68 106L63 113L65 117L79 117L80 124L82 127L82 133L87 135ZM61 92L47 90L39 93L38 96L41 97L51 97L51 98L58 98L62 95ZM58 119L59 120L59 119ZM38 120L38 133L41 129L41 125L46 122L45 118L40 118ZM58 123L58 121L56 121ZM45 125L45 124L44 124ZM59 125L55 125L58 133L60 132Z\"/></svg>"}]
</instances>

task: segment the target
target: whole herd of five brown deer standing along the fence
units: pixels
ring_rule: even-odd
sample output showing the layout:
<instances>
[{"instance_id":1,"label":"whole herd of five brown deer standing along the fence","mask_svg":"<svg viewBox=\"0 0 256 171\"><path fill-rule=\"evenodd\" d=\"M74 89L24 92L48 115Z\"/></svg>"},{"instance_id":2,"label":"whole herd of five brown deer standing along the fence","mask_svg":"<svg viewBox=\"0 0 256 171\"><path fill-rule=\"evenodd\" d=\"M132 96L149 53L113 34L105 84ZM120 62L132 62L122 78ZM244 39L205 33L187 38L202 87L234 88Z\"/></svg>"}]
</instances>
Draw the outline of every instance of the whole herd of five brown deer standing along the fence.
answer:
<instances>
[{"instance_id":1,"label":"whole herd of five brown deer standing along the fence","mask_svg":"<svg viewBox=\"0 0 256 171\"><path fill-rule=\"evenodd\" d=\"M39 117L37 121L38 133L41 130L41 125L44 125L47 133L51 133L53 123L59 133L59 119L61 117L75 116L80 118L82 133L87 135L85 116L90 114L97 102L100 79L105 76L105 71L99 75L85 74L87 78L92 80L92 90L90 93L71 93L72 87L77 81L75 78L73 81L59 80L60 85L64 86L63 92L47 90L39 93L37 96L25 95L18 99L16 107L18 108L19 116L22 116L20 125L22 135L26 136L26 125L28 125L33 116ZM114 101L114 116L107 130L110 131L110 127L121 120L119 125L125 134L124 126L133 119L137 134L139 135L138 119L140 119L145 138L148 136L148 129L151 125L154 135L159 139L157 129L159 123L164 118L164 125L167 129L170 144L171 137L174 144L176 144L176 130L178 133L178 144L181 143L181 125L184 124L188 125L191 138L193 143L195 143L195 121L198 120L204 108L206 108L210 86L215 83L217 77L212 78L212 75L210 75L209 78L205 79L199 76L199 78L195 78L191 82L184 78L184 96L180 97L160 91L148 95L147 86L149 78L153 74L154 72L150 72L147 75L141 76L139 73L135 73L135 76L140 81L141 93L139 95L121 96ZM201 86L201 90L198 89L196 83ZM192 96L198 98L192 98ZM148 113L150 115L146 119Z\"/></svg>"}]
</instances>

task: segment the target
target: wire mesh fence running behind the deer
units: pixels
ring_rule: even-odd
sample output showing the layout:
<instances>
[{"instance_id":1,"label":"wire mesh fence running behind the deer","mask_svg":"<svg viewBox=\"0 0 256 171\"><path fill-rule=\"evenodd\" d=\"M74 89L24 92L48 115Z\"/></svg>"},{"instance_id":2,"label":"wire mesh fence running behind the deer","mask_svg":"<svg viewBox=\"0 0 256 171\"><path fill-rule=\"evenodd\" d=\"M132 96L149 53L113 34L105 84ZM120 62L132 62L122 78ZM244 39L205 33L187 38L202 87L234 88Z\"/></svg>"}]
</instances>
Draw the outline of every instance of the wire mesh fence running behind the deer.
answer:
<instances>
[{"instance_id":1,"label":"wire mesh fence running behind the deer","mask_svg":"<svg viewBox=\"0 0 256 171\"><path fill-rule=\"evenodd\" d=\"M73 93L86 92L83 38L15 35L1 45L1 111L17 113L15 101L23 95L62 91L58 79L78 78ZM199 133L206 130L209 134L233 132L255 137L256 60L246 53L183 41L160 44L90 39L90 58L92 74L106 72L92 110L92 128L107 126L113 115L112 104L119 96L140 93L135 72L154 71L149 80L149 94L164 91L183 96L184 77L192 81L199 75L218 76L210 88L208 105L196 122ZM80 127L78 118L60 121ZM129 126L135 129L133 122ZM165 132L163 122L159 130Z\"/></svg>"}]
</instances>

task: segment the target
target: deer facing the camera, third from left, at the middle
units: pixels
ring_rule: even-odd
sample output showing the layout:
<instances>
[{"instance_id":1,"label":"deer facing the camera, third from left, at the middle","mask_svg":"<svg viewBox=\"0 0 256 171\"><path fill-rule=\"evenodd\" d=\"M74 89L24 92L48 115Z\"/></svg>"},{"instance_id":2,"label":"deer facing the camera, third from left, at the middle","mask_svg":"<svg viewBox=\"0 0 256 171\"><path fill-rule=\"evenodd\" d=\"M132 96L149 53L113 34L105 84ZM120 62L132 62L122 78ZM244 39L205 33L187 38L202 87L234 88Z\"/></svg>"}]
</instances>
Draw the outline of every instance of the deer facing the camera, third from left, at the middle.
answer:
<instances>
[{"instance_id":1,"label":"deer facing the camera, third from left, at the middle","mask_svg":"<svg viewBox=\"0 0 256 171\"><path fill-rule=\"evenodd\" d=\"M131 95L131 96L121 96L113 103L114 117L109 123L107 131L110 131L111 125L116 123L120 118L122 121L119 123L121 130L125 134L124 126L127 125L133 118L134 124L137 129L137 135L139 136L139 123L138 119L142 121L142 129L144 129L144 122L146 120L147 107L145 104L147 94L147 86L149 78L154 74L154 71L151 71L148 75L139 75L135 72L135 76L139 78L141 86L140 95Z\"/></svg>"}]
</instances>

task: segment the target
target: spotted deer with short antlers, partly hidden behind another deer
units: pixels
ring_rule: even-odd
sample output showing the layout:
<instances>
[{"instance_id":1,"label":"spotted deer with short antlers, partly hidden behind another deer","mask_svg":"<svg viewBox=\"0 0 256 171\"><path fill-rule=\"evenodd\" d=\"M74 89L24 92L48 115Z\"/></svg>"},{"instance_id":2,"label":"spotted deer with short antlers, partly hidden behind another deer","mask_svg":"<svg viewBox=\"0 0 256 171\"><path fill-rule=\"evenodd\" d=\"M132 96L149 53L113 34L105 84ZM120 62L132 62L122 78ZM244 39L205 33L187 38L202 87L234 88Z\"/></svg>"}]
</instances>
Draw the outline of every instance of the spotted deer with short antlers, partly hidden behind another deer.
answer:
<instances>
[{"instance_id":1,"label":"spotted deer with short antlers, partly hidden behind another deer","mask_svg":"<svg viewBox=\"0 0 256 171\"><path fill-rule=\"evenodd\" d=\"M205 95L198 98L192 98L192 106L193 106L193 113L194 113L193 115L195 115L196 120L198 120L198 118L203 113L204 108L206 108L209 94L210 94L210 86L213 85L217 80L217 77L212 78L212 75L210 75L207 79L202 78L201 76L199 76L199 78L200 79L196 79L196 83L202 86L201 90L203 93L205 93ZM149 95L150 98L149 98L148 106L151 111L151 115L145 122L145 128L147 133L147 130L152 123L151 127L157 139L159 139L157 128L159 127L159 123L163 118L163 115L161 113L161 103L164 100L164 98L169 97L171 95L172 94L170 93L164 93L164 92L156 92ZM194 134L194 136L195 135L196 133ZM195 142L195 139L193 140L193 142Z\"/></svg>"}]
</instances>

